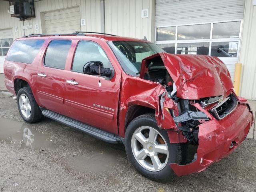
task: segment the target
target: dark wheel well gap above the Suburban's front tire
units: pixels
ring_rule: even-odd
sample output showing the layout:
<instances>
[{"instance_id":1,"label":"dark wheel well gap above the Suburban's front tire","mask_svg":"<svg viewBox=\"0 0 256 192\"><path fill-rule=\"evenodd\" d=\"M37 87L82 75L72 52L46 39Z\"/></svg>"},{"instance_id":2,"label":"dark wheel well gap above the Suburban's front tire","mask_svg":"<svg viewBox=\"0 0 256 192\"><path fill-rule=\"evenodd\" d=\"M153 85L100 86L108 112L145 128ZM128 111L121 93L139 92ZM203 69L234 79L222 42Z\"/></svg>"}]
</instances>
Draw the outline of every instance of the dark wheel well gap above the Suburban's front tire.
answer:
<instances>
[{"instance_id":1,"label":"dark wheel well gap above the Suburban's front tire","mask_svg":"<svg viewBox=\"0 0 256 192\"><path fill-rule=\"evenodd\" d=\"M147 113L154 113L155 114L156 110L149 108L149 107L145 107L145 106L141 106L141 105L132 105L128 108L127 112L126 112L126 117L125 117L125 130L128 126L128 124L136 117L143 115L143 114L147 114Z\"/></svg>"}]
</instances>

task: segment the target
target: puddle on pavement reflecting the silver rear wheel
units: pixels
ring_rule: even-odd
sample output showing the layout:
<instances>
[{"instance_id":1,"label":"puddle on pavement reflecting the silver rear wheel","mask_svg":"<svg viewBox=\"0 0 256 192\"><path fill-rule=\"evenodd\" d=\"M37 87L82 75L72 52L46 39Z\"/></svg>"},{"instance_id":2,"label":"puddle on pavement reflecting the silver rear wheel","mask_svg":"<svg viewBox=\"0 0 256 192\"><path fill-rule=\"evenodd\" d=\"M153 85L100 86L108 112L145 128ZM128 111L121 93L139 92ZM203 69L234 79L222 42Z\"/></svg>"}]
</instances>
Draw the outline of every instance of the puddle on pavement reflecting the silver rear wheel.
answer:
<instances>
[{"instance_id":1,"label":"puddle on pavement reflecting the silver rear wheel","mask_svg":"<svg viewBox=\"0 0 256 192\"><path fill-rule=\"evenodd\" d=\"M0 142L7 141L30 149L51 147L52 138L35 130L32 124L0 118Z\"/></svg>"}]
</instances>

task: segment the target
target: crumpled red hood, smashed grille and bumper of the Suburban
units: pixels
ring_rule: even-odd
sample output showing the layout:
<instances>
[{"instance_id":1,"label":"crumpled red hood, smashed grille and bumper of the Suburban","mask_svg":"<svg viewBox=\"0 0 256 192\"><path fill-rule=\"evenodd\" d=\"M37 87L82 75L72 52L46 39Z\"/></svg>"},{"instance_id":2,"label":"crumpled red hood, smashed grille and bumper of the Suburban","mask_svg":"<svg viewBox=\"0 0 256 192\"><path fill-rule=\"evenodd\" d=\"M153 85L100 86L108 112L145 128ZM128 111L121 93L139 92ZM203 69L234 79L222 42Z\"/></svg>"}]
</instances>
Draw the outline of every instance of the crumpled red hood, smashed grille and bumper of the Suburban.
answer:
<instances>
[{"instance_id":1,"label":"crumpled red hood, smashed grille and bumper of the Suburban","mask_svg":"<svg viewBox=\"0 0 256 192\"><path fill-rule=\"evenodd\" d=\"M158 126L168 130L171 142L196 146L192 159L170 164L177 176L206 169L242 143L253 123L252 111L234 93L223 62L204 55L158 53L142 60L140 78L152 62L164 64L171 77L158 98Z\"/></svg>"}]
</instances>

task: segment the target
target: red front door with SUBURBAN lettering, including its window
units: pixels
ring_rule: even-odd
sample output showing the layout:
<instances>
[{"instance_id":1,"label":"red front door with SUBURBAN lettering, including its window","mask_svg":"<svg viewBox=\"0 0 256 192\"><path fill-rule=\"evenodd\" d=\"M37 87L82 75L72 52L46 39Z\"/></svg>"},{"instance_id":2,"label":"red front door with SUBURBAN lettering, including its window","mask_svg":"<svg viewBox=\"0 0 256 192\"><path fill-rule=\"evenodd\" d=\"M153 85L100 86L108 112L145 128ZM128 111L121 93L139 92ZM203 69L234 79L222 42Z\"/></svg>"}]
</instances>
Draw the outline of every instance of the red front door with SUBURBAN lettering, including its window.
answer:
<instances>
[{"instance_id":1,"label":"red front door with SUBURBAN lettering, including its window","mask_svg":"<svg viewBox=\"0 0 256 192\"><path fill-rule=\"evenodd\" d=\"M111 77L84 74L84 65L95 61L101 62L104 68L113 69L99 44L85 40L78 42L71 70L66 76L66 110L71 118L118 134L120 76L114 69Z\"/></svg>"}]
</instances>

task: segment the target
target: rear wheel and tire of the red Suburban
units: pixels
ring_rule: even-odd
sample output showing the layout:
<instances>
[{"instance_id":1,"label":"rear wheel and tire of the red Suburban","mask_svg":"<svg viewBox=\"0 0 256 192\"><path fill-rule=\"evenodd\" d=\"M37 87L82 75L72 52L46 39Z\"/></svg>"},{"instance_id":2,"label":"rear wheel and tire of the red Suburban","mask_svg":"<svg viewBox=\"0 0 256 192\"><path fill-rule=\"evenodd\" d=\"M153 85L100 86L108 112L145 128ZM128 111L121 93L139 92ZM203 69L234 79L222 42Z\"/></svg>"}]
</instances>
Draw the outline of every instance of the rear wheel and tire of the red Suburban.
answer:
<instances>
[{"instance_id":1,"label":"rear wheel and tire of the red Suburban","mask_svg":"<svg viewBox=\"0 0 256 192\"><path fill-rule=\"evenodd\" d=\"M18 91L17 104L24 121L34 123L42 119L42 112L34 99L30 87L23 87Z\"/></svg>"}]
</instances>

